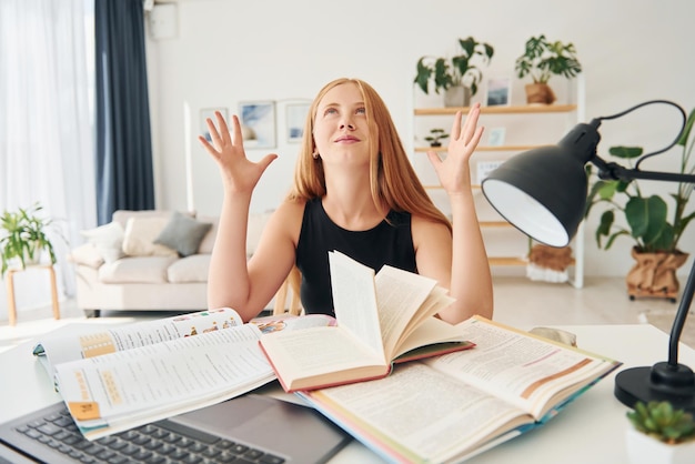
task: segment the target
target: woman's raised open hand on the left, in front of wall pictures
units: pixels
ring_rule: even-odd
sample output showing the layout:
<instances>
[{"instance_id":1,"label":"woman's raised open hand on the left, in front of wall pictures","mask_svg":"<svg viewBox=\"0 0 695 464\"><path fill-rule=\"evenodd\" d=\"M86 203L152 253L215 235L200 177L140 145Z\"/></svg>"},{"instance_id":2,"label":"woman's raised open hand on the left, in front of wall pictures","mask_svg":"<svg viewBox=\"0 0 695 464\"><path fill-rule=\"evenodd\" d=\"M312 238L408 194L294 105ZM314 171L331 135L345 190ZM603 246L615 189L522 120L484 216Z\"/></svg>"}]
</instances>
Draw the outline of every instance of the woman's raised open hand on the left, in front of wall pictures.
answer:
<instances>
[{"instance_id":1,"label":"woman's raised open hand on the left, in front of wall pictures","mask_svg":"<svg viewBox=\"0 0 695 464\"><path fill-rule=\"evenodd\" d=\"M199 135L198 140L218 162L224 188L234 193L251 193L265 169L278 155L266 154L258 163L250 161L244 151L239 118L232 115L233 133L230 133L222 114L215 111L214 115L216 127L210 118L205 121L212 143L202 135Z\"/></svg>"}]
</instances>

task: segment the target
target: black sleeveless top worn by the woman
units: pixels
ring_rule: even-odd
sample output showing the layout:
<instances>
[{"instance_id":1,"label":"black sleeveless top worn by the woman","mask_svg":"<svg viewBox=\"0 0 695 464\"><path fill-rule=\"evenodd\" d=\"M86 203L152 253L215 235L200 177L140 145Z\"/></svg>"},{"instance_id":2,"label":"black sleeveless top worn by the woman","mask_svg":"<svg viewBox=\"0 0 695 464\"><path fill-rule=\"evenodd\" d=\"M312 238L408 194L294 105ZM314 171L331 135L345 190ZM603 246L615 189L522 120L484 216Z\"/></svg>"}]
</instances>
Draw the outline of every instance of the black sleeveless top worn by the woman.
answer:
<instances>
[{"instance_id":1,"label":"black sleeveless top worn by the woman","mask_svg":"<svg viewBox=\"0 0 695 464\"><path fill-rule=\"evenodd\" d=\"M331 221L321 198L306 202L296 244L296 266L302 273L300 297L306 314L335 315L329 251L340 251L375 272L384 264L416 272L411 214L391 211L386 219L367 231L349 231Z\"/></svg>"}]
</instances>

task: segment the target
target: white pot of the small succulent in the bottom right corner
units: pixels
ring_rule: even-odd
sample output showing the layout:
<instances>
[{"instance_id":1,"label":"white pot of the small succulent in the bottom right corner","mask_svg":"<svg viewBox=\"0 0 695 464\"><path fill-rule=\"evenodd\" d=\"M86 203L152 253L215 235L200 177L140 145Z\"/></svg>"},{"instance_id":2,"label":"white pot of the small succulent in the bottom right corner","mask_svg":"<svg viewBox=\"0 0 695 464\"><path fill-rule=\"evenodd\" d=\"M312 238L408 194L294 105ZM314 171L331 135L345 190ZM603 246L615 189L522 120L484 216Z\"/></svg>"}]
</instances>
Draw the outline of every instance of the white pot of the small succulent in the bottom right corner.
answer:
<instances>
[{"instance_id":1,"label":"white pot of the small succulent in the bottom right corner","mask_svg":"<svg viewBox=\"0 0 695 464\"><path fill-rule=\"evenodd\" d=\"M669 445L629 427L625 431L629 464L693 464L695 441Z\"/></svg>"}]
</instances>

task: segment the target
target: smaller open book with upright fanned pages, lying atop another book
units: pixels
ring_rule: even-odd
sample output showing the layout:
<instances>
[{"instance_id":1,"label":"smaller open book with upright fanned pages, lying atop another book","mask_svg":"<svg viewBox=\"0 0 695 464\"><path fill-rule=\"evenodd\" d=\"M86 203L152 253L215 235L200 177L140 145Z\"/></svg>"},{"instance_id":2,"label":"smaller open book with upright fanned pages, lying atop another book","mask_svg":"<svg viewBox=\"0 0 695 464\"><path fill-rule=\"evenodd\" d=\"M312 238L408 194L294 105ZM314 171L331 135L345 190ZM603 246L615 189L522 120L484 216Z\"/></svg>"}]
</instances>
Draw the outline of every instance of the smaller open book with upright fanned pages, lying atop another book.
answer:
<instances>
[{"instance_id":1,"label":"smaller open book with upright fanned pages, lying atop another book","mask_svg":"<svg viewBox=\"0 0 695 464\"><path fill-rule=\"evenodd\" d=\"M434 317L453 302L436 281L389 265L374 275L340 252L329 264L338 324L261 340L286 392L380 379L392 363L473 346Z\"/></svg>"}]
</instances>

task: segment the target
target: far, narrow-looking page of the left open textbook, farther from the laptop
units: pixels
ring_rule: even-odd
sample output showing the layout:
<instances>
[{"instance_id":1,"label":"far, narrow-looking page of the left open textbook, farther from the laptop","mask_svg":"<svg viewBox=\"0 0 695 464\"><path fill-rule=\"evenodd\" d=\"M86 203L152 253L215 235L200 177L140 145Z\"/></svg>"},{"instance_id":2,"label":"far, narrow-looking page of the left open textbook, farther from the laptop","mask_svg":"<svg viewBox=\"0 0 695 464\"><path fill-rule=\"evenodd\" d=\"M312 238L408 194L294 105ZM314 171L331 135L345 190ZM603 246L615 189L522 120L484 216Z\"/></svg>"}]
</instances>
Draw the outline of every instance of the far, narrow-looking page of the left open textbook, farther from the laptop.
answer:
<instances>
[{"instance_id":1,"label":"far, narrow-looking page of the left open textbook, farther from the laptop","mask_svg":"<svg viewBox=\"0 0 695 464\"><path fill-rule=\"evenodd\" d=\"M46 356L47 369L52 375L54 366L67 361L100 356L242 324L243 321L236 311L229 307L199 311L105 330L83 324L74 327L69 335L47 335L34 346L33 354Z\"/></svg>"}]
</instances>

